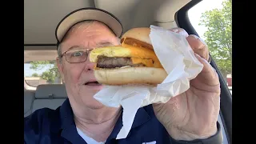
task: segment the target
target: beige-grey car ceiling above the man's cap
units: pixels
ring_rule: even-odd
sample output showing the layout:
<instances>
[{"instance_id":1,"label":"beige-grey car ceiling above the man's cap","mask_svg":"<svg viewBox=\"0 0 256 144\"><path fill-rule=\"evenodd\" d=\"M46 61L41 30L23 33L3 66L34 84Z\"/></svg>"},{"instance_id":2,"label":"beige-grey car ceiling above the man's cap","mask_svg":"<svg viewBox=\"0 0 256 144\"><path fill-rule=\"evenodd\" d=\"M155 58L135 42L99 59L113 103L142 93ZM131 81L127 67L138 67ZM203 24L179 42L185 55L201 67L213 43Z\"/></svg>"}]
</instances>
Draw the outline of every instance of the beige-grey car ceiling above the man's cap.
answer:
<instances>
[{"instance_id":1,"label":"beige-grey car ceiling above the man's cap","mask_svg":"<svg viewBox=\"0 0 256 144\"><path fill-rule=\"evenodd\" d=\"M55 28L71 11L97 7L114 14L124 32L132 27L176 27L175 13L190 0L24 0L24 60L57 57Z\"/></svg>"}]
</instances>

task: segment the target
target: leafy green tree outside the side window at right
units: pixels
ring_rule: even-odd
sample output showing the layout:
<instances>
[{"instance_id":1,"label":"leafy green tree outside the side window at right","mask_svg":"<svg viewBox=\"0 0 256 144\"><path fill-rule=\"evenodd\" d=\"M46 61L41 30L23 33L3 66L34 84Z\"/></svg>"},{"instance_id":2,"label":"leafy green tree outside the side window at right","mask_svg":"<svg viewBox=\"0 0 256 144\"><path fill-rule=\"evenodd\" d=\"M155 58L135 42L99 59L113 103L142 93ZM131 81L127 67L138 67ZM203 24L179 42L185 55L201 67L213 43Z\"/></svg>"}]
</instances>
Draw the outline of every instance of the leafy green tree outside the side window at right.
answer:
<instances>
[{"instance_id":1,"label":"leafy green tree outside the side window at right","mask_svg":"<svg viewBox=\"0 0 256 144\"><path fill-rule=\"evenodd\" d=\"M200 26L206 26L206 44L224 78L232 74L232 1L222 2L221 9L202 13Z\"/></svg>"}]
</instances>

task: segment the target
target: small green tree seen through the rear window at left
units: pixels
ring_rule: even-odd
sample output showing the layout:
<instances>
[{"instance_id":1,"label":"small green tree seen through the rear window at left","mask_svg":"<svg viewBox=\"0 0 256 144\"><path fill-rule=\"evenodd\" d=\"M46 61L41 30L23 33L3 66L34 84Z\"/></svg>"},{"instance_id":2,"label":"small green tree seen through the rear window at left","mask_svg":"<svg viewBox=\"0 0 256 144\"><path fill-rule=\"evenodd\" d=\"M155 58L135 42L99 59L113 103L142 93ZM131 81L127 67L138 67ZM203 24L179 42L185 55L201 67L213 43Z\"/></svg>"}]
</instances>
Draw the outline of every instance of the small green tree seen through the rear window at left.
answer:
<instances>
[{"instance_id":1,"label":"small green tree seen through the rear window at left","mask_svg":"<svg viewBox=\"0 0 256 144\"><path fill-rule=\"evenodd\" d=\"M47 68L47 70L40 75L40 78L45 79L49 83L54 83L55 78L58 78L59 80L61 79L60 74L58 74L58 67L55 61L30 62L30 69L32 70L42 70L44 68Z\"/></svg>"}]
</instances>

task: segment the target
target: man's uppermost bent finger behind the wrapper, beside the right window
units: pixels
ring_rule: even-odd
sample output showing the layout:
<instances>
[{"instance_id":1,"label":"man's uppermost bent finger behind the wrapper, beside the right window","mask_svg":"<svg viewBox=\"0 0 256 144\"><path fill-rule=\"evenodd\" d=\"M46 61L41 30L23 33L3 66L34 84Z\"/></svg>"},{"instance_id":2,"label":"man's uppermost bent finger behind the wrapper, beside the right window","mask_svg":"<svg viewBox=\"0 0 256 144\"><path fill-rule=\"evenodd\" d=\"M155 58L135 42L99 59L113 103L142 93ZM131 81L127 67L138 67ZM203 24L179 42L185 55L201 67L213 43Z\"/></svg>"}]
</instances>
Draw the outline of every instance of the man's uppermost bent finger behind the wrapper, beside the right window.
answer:
<instances>
[{"instance_id":1,"label":"man's uppermost bent finger behind the wrapper, beside the right window","mask_svg":"<svg viewBox=\"0 0 256 144\"><path fill-rule=\"evenodd\" d=\"M202 58L205 58L207 61L209 61L209 50L205 42L201 38L199 38L196 35L189 35L186 38L187 42L189 42L190 47L196 54L199 54Z\"/></svg>"}]
</instances>

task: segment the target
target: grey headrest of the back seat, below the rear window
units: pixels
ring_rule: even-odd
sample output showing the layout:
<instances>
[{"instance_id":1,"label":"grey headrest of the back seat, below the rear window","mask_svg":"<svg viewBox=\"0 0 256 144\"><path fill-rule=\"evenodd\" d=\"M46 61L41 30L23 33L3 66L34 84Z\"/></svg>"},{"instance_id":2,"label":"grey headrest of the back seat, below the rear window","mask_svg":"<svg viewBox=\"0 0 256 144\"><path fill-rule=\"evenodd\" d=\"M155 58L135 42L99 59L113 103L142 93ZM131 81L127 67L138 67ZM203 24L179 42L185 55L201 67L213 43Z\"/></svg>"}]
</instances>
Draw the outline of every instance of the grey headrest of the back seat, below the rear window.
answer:
<instances>
[{"instance_id":1,"label":"grey headrest of the back seat, below the rear window","mask_svg":"<svg viewBox=\"0 0 256 144\"><path fill-rule=\"evenodd\" d=\"M66 87L63 84L39 85L35 91L35 98L67 98Z\"/></svg>"}]
</instances>

